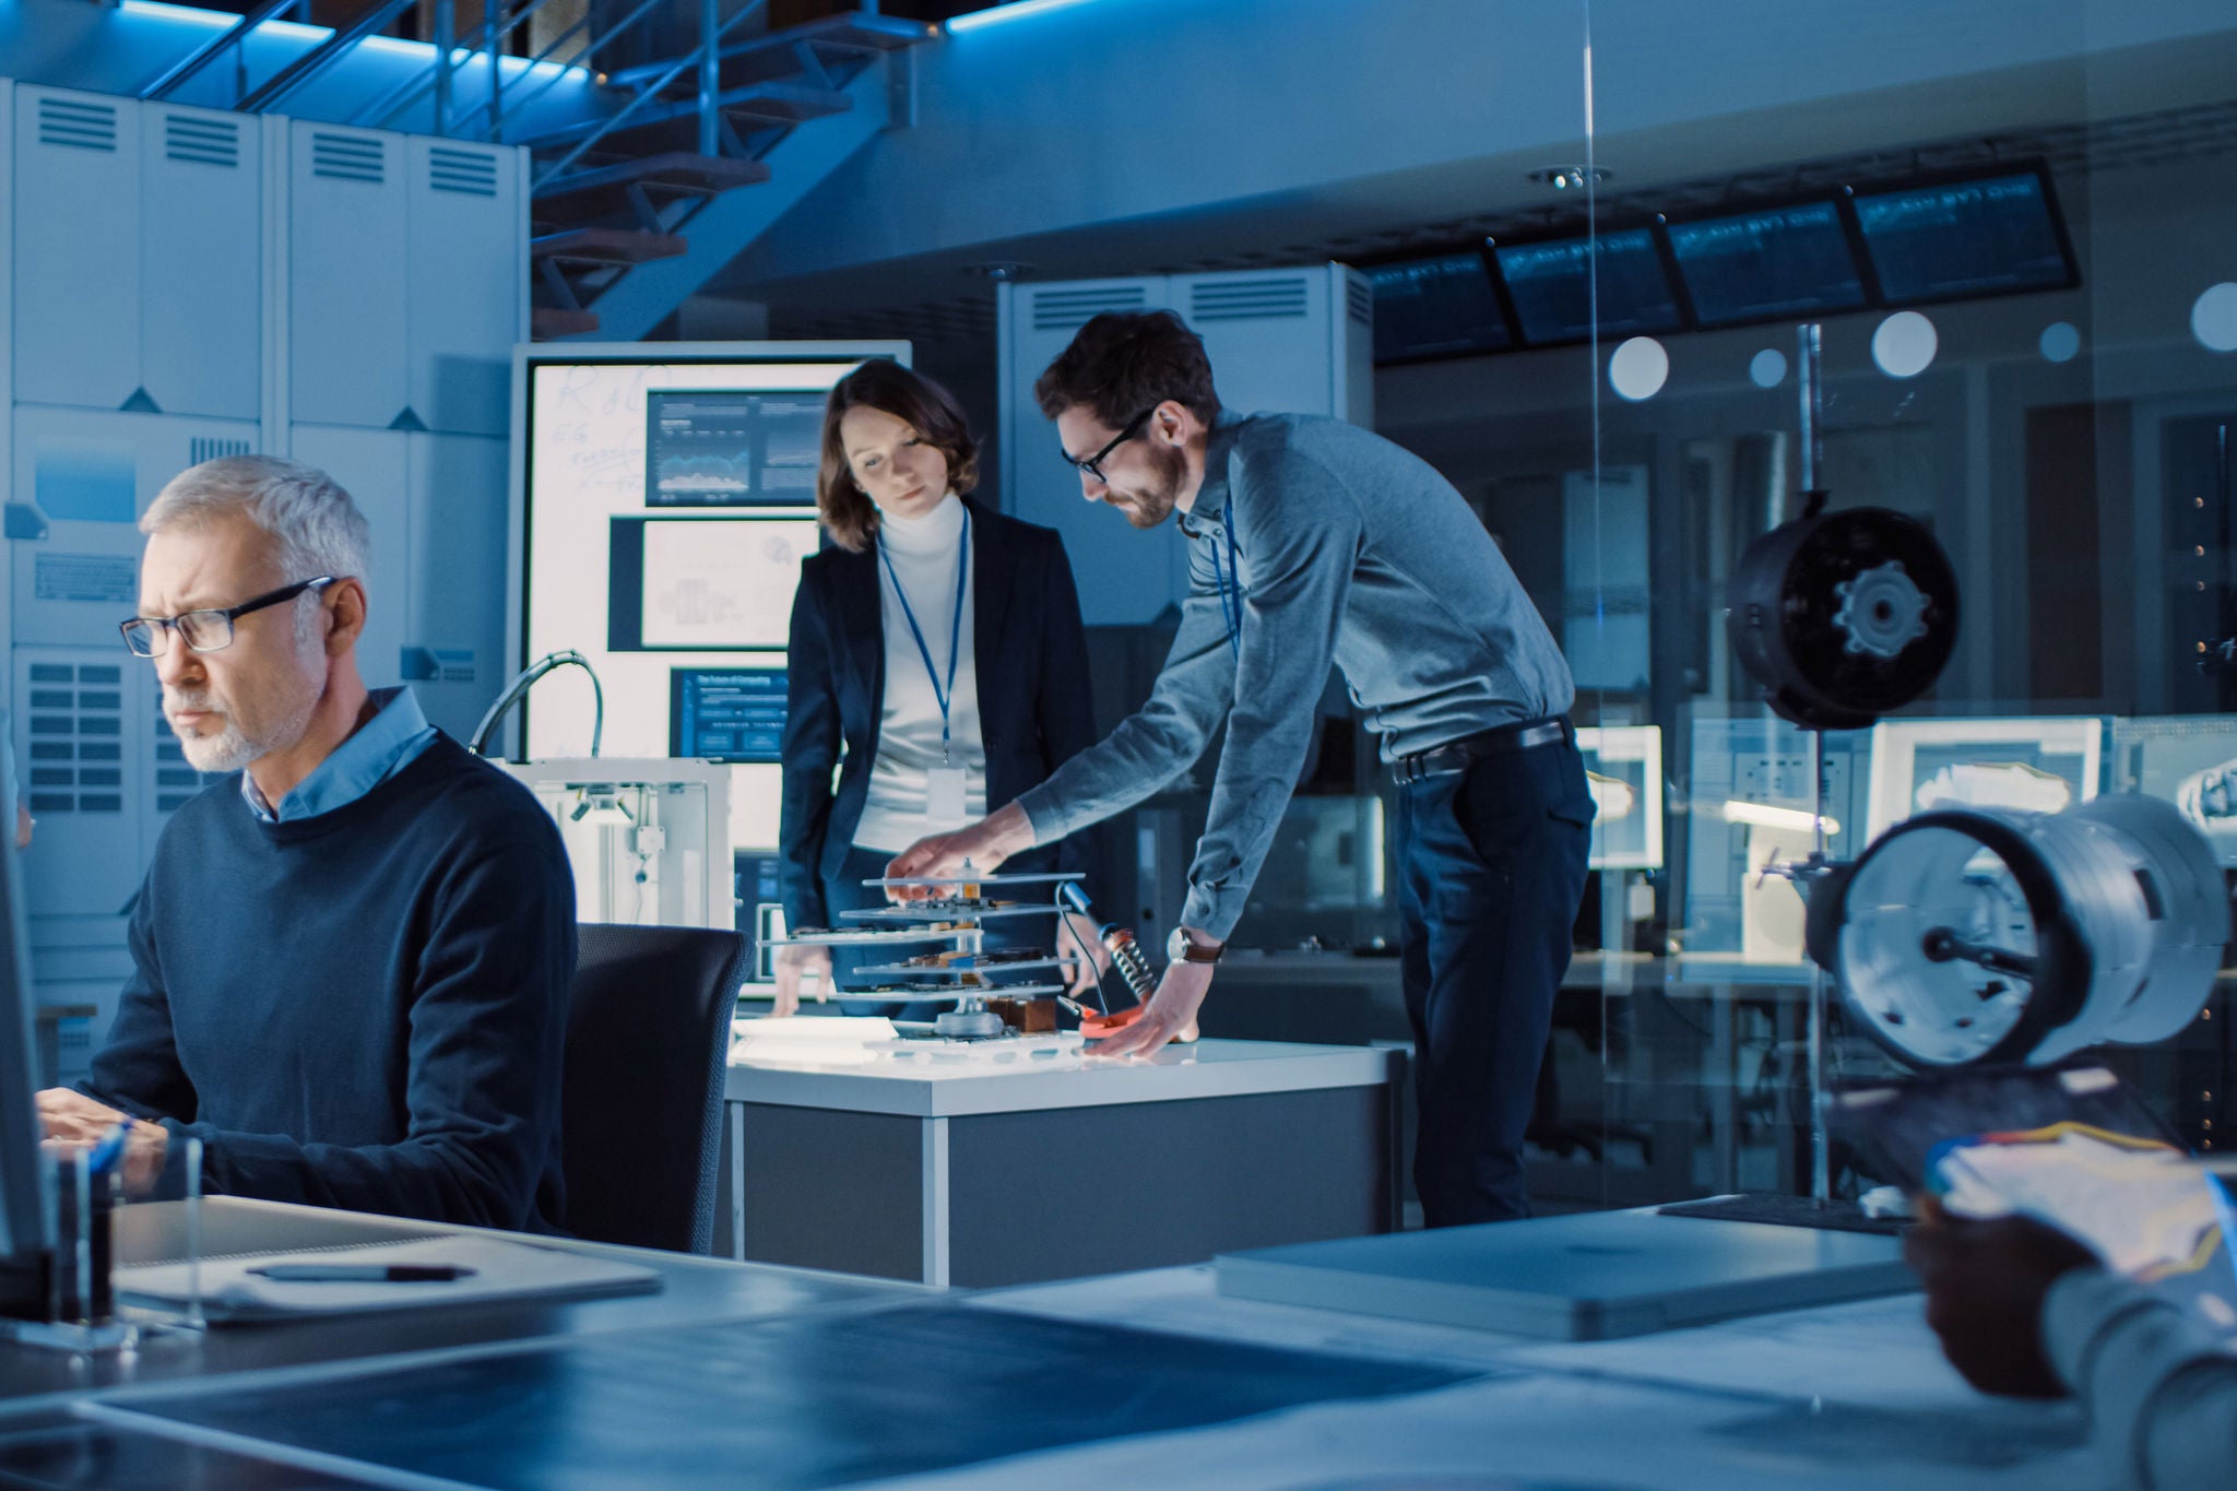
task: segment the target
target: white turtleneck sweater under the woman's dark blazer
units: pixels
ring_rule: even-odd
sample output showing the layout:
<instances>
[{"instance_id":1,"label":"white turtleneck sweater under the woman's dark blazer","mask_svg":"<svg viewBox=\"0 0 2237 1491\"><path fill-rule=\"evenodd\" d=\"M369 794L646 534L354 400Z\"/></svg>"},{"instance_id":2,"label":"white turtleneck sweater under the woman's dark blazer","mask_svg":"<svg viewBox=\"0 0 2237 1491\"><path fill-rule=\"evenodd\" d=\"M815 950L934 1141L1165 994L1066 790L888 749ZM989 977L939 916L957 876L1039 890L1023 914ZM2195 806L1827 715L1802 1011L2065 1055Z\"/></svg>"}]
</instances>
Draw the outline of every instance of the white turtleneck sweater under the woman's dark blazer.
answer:
<instances>
[{"instance_id":1,"label":"white turtleneck sweater under the woman's dark blazer","mask_svg":"<svg viewBox=\"0 0 2237 1491\"><path fill-rule=\"evenodd\" d=\"M926 834L946 834L987 816L987 744L978 718L978 668L973 666L971 597L978 566L964 581L962 630L955 633L955 695L948 700L948 762L964 769L964 814L931 818L926 811L931 771L940 765L940 695L924 671L924 653L908 630L908 617L893 592L899 577L908 606L924 630L940 682L948 677L948 628L955 624L955 563L962 554L964 505L953 492L922 519L879 514L875 543L877 601L886 626L886 702L877 729L877 760L870 762L870 796L855 827L855 843L881 854L899 854ZM886 568L886 559L893 568Z\"/></svg>"}]
</instances>

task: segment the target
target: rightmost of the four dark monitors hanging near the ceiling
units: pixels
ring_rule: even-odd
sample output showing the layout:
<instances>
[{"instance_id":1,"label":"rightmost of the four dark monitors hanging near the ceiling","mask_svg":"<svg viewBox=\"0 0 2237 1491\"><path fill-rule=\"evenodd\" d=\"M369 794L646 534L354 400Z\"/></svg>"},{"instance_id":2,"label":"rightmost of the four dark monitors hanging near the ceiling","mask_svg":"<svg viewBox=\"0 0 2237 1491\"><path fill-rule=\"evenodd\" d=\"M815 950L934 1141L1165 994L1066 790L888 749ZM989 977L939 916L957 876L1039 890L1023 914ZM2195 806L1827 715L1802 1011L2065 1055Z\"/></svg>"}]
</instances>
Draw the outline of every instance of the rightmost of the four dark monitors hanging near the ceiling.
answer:
<instances>
[{"instance_id":1,"label":"rightmost of the four dark monitors hanging near the ceiling","mask_svg":"<svg viewBox=\"0 0 2237 1491\"><path fill-rule=\"evenodd\" d=\"M1857 192L1857 226L1888 302L2074 284L2056 208L2045 179L2031 170Z\"/></svg>"}]
</instances>

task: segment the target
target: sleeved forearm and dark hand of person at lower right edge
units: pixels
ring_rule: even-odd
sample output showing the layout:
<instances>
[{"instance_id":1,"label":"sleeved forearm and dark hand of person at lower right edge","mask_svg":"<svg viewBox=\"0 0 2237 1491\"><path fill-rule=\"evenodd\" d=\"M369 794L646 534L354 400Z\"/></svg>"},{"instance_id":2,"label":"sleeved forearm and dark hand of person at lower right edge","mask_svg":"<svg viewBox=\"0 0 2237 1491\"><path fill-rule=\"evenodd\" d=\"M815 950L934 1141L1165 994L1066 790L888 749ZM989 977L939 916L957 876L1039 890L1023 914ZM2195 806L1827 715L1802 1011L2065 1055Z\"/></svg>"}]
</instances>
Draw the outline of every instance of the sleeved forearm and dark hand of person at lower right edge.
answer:
<instances>
[{"instance_id":1,"label":"sleeved forearm and dark hand of person at lower right edge","mask_svg":"<svg viewBox=\"0 0 2237 1491\"><path fill-rule=\"evenodd\" d=\"M1926 1323L1975 1388L2080 1397L2116 1484L2237 1484L2237 1337L2018 1216L1931 1212L1906 1234L1904 1256L1926 1283Z\"/></svg>"}]
</instances>

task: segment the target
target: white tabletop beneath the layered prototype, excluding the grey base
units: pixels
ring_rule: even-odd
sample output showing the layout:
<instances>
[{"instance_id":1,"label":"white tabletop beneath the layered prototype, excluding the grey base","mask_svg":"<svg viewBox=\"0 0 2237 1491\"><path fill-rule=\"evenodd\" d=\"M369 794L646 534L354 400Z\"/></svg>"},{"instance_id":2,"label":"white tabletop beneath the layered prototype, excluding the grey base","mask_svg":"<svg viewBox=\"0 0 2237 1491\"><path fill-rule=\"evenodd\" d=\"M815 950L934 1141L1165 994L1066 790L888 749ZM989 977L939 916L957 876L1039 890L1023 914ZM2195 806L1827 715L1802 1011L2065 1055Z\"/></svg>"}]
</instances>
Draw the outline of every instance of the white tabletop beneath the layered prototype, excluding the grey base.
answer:
<instances>
[{"instance_id":1,"label":"white tabletop beneath the layered prototype, excluding the grey base","mask_svg":"<svg viewBox=\"0 0 2237 1491\"><path fill-rule=\"evenodd\" d=\"M1058 1055L1007 1064L944 1066L924 1060L763 1062L752 1046L731 1057L725 1095L794 1109L846 1109L955 1118L1121 1102L1248 1098L1333 1086L1385 1086L1398 1053L1376 1046L1206 1039L1154 1057Z\"/></svg>"}]
</instances>

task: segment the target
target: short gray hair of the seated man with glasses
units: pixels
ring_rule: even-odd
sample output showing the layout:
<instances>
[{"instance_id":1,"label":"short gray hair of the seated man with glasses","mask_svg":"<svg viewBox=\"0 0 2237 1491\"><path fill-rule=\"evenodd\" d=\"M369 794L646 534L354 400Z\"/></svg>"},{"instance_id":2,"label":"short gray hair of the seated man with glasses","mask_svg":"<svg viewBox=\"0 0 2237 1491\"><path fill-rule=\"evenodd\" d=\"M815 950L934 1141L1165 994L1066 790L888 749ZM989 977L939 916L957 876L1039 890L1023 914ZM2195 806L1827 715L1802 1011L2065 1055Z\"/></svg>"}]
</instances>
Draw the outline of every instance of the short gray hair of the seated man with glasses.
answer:
<instances>
[{"instance_id":1,"label":"short gray hair of the seated man with glasses","mask_svg":"<svg viewBox=\"0 0 2237 1491\"><path fill-rule=\"evenodd\" d=\"M280 541L286 583L315 574L358 577L371 550L365 514L331 476L280 456L219 456L190 465L157 492L141 532L204 528L230 512Z\"/></svg>"}]
</instances>

